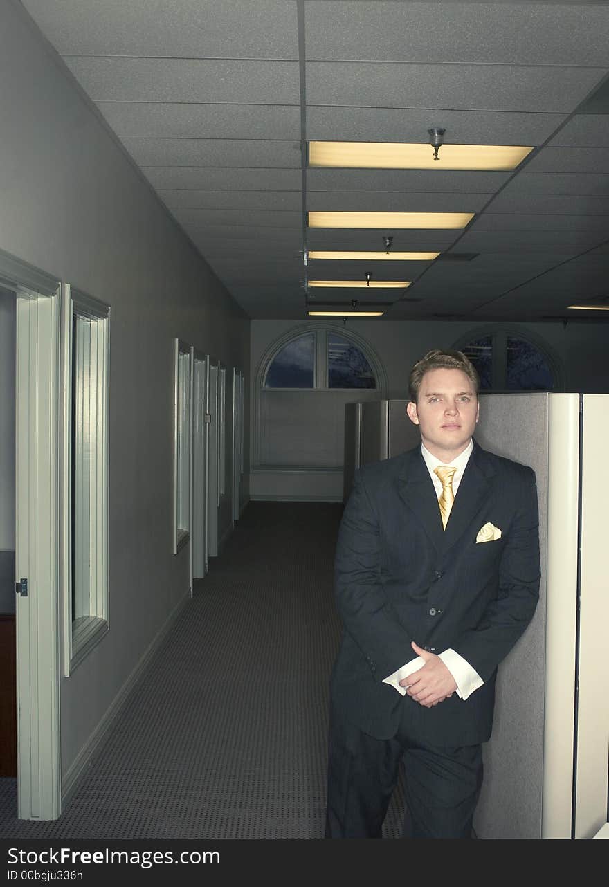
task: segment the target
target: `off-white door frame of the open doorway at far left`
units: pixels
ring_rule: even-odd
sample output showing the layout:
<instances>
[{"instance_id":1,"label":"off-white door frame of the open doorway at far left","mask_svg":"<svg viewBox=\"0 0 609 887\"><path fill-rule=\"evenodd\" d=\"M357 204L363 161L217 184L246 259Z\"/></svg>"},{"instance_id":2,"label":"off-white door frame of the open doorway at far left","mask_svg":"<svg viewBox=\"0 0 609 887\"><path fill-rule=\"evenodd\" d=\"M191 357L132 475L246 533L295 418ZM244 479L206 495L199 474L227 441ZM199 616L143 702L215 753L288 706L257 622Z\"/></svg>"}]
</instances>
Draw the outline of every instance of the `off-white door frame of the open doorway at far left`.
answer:
<instances>
[{"instance_id":1,"label":"off-white door frame of the open doorway at far left","mask_svg":"<svg viewBox=\"0 0 609 887\"><path fill-rule=\"evenodd\" d=\"M0 250L0 282L16 300L15 576L17 815L61 812L60 357L57 277ZM27 593L22 583L28 580Z\"/></svg>"}]
</instances>

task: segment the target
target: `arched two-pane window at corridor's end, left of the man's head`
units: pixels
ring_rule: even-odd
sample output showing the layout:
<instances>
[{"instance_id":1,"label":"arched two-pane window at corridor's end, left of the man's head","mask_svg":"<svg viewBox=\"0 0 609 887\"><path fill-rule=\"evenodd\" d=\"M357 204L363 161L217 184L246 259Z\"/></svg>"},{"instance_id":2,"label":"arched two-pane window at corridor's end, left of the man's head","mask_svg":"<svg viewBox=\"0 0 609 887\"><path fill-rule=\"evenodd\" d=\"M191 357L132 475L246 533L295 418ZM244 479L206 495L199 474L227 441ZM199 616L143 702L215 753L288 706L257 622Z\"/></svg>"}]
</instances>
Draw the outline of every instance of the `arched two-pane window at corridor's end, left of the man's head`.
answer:
<instances>
[{"instance_id":1,"label":"arched two-pane window at corridor's end, left of the man's head","mask_svg":"<svg viewBox=\"0 0 609 887\"><path fill-rule=\"evenodd\" d=\"M376 374L359 344L333 330L286 342L267 366L265 389L376 389Z\"/></svg>"}]
</instances>

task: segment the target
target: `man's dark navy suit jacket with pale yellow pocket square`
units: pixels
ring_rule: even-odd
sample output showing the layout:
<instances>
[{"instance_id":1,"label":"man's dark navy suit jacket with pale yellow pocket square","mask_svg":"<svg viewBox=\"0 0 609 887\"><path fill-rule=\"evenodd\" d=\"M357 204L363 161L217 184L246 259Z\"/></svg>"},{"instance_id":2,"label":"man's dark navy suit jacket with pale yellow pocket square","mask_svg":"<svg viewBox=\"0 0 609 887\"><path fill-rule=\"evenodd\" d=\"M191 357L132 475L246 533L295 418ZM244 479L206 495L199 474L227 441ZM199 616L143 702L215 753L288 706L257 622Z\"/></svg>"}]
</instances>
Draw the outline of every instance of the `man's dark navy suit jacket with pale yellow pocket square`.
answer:
<instances>
[{"instance_id":1,"label":"man's dark navy suit jacket with pale yellow pocket square","mask_svg":"<svg viewBox=\"0 0 609 887\"><path fill-rule=\"evenodd\" d=\"M486 522L502 536L477 543ZM360 468L336 547L344 632L331 681L334 716L379 739L406 716L426 742L486 742L497 665L530 622L539 583L531 468L474 441L446 530L420 446ZM455 649L484 686L429 709L399 695L383 679L415 658L412 640L433 653Z\"/></svg>"}]
</instances>

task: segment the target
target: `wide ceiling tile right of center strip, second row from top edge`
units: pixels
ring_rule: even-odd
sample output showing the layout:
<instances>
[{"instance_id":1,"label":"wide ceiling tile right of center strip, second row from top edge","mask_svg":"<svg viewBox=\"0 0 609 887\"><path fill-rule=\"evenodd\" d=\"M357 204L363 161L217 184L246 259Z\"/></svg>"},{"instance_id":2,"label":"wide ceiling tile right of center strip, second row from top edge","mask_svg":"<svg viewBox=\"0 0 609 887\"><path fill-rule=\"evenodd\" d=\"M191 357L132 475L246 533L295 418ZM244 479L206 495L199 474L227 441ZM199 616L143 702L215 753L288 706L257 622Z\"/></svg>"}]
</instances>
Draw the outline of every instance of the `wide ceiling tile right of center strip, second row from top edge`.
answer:
<instances>
[{"instance_id":1,"label":"wide ceiling tile right of center strip, second row from top edge","mask_svg":"<svg viewBox=\"0 0 609 887\"><path fill-rule=\"evenodd\" d=\"M306 92L310 105L382 102L400 108L569 113L604 74L587 67L308 62Z\"/></svg>"}]
</instances>

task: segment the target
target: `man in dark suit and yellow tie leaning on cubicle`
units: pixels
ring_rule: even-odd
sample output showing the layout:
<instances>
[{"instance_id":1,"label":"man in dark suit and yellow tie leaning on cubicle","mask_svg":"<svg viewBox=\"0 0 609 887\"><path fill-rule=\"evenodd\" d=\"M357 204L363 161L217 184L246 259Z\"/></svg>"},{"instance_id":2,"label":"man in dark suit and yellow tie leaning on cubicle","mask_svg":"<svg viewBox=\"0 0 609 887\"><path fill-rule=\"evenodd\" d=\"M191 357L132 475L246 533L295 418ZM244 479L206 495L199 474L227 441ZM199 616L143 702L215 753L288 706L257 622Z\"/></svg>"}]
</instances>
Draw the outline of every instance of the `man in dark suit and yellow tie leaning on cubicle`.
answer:
<instances>
[{"instance_id":1,"label":"man in dark suit and yellow tie leaning on cubicle","mask_svg":"<svg viewBox=\"0 0 609 887\"><path fill-rule=\"evenodd\" d=\"M355 477L336 548L327 837L381 837L402 757L409 835L471 837L496 668L540 580L534 472L473 441L478 385L461 351L428 352L407 404L421 446Z\"/></svg>"}]
</instances>

